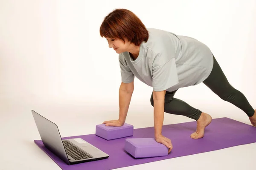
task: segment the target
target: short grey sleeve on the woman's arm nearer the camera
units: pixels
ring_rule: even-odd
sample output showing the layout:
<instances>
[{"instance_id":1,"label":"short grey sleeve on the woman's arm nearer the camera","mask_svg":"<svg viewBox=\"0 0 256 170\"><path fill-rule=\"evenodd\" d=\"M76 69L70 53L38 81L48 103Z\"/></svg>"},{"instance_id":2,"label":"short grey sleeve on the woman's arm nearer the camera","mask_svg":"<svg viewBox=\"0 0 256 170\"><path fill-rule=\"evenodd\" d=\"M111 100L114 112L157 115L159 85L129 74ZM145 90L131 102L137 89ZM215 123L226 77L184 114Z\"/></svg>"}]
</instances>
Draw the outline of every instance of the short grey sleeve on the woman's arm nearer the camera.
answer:
<instances>
[{"instance_id":1,"label":"short grey sleeve on the woman's arm nearer the camera","mask_svg":"<svg viewBox=\"0 0 256 170\"><path fill-rule=\"evenodd\" d=\"M154 91L164 91L179 82L175 57L163 65L152 68L152 86Z\"/></svg>"}]
</instances>

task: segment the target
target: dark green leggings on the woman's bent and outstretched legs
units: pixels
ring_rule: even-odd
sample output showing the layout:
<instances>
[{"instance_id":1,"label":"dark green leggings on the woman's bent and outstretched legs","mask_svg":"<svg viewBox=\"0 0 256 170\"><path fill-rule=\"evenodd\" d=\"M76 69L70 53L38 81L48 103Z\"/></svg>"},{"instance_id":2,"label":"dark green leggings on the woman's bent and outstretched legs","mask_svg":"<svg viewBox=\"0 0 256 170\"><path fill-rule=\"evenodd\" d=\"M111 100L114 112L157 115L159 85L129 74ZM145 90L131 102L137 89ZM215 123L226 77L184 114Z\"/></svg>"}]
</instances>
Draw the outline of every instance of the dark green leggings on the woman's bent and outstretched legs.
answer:
<instances>
[{"instance_id":1,"label":"dark green leggings on the woman's bent and outstretched legs","mask_svg":"<svg viewBox=\"0 0 256 170\"><path fill-rule=\"evenodd\" d=\"M207 87L209 87L224 101L230 102L233 105L237 106L242 111L244 111L247 116L253 116L254 109L249 104L244 94L242 94L240 91L233 88L232 85L230 85L214 56L213 59L214 63L212 72L203 83L207 85ZM173 96L176 91L166 91L164 112L176 115L183 115L191 119L198 120L202 112L198 109L193 108L186 102L174 98ZM153 93L151 94L150 102L151 105L154 106Z\"/></svg>"}]
</instances>

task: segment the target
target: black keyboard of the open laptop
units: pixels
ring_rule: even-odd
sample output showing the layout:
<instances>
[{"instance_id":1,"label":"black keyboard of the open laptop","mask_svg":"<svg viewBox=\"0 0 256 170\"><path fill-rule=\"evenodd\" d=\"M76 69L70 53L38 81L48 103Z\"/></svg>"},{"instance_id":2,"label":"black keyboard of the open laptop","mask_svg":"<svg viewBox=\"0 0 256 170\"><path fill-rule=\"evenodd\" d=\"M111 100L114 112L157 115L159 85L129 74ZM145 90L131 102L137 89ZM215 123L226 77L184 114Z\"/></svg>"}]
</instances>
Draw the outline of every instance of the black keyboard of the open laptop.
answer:
<instances>
[{"instance_id":1,"label":"black keyboard of the open laptop","mask_svg":"<svg viewBox=\"0 0 256 170\"><path fill-rule=\"evenodd\" d=\"M77 146L69 141L63 141L64 148L68 155L70 155L75 160L92 158L88 153L79 150Z\"/></svg>"}]
</instances>

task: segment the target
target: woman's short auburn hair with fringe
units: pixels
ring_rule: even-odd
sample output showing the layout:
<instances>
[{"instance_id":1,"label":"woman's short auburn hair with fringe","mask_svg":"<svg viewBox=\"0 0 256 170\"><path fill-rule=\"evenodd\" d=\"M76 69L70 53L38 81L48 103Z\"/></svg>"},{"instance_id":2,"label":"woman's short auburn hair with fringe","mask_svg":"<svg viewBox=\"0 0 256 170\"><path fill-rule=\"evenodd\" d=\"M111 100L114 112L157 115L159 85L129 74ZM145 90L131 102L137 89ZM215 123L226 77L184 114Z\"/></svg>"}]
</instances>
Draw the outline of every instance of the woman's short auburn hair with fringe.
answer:
<instances>
[{"instance_id":1,"label":"woman's short auburn hair with fringe","mask_svg":"<svg viewBox=\"0 0 256 170\"><path fill-rule=\"evenodd\" d=\"M135 45L148 41L148 30L132 11L115 9L103 20L99 29L101 37L117 38L125 42L125 38Z\"/></svg>"}]
</instances>

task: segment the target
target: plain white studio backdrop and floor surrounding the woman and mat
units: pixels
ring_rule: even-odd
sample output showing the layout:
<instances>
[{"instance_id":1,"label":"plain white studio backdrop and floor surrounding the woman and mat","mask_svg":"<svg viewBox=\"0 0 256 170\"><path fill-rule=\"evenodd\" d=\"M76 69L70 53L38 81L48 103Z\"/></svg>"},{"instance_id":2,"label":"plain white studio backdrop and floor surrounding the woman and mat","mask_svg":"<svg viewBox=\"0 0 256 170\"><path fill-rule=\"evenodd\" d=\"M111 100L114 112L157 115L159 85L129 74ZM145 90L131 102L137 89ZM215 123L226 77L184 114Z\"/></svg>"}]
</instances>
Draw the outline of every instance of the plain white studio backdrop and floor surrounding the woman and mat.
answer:
<instances>
[{"instance_id":1,"label":"plain white studio backdrop and floor surrounding the woman and mat","mask_svg":"<svg viewBox=\"0 0 256 170\"><path fill-rule=\"evenodd\" d=\"M118 119L118 54L99 35L115 8L133 11L148 28L205 43L231 85L256 108L255 0L0 0L0 169L60 169L33 143L40 136L31 109L55 122L62 137L95 133L95 125ZM154 126L152 88L136 78L134 84L127 122L134 128ZM202 83L175 97L212 118L250 124L243 111ZM164 125L189 121L165 113ZM255 147L122 169L253 169Z\"/></svg>"}]
</instances>

